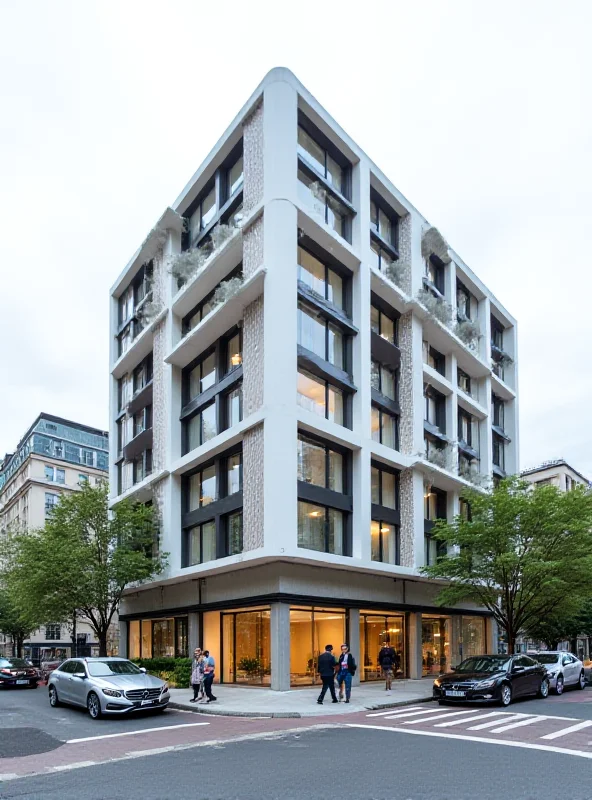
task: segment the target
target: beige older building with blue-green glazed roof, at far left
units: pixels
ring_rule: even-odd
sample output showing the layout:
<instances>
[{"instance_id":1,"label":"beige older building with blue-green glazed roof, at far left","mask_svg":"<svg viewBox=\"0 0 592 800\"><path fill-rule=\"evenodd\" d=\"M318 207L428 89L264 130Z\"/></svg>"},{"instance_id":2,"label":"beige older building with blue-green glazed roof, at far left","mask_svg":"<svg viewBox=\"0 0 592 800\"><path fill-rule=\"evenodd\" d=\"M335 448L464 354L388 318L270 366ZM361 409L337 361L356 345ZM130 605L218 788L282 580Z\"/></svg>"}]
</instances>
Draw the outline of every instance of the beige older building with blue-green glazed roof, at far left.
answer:
<instances>
[{"instance_id":1,"label":"beige older building with blue-green glazed roof, at far left","mask_svg":"<svg viewBox=\"0 0 592 800\"><path fill-rule=\"evenodd\" d=\"M106 431L78 422L40 414L14 453L0 462L0 536L10 528L34 530L45 524L61 495L75 492L83 481L94 484L108 477L109 438ZM94 634L78 625L80 654L92 652ZM70 653L72 640L66 625L48 620L25 642L25 656L34 662L59 650ZM0 653L12 652L12 643L0 632Z\"/></svg>"}]
</instances>

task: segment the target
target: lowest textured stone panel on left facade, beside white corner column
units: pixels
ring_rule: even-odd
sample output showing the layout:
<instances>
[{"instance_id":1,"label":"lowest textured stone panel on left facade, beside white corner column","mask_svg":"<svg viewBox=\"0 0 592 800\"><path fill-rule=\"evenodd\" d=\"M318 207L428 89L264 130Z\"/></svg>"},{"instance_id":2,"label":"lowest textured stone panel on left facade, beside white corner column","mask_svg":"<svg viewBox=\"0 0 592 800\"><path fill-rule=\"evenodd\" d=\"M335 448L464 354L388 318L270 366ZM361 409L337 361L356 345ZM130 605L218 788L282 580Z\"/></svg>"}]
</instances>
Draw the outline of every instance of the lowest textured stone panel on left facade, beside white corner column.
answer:
<instances>
[{"instance_id":1,"label":"lowest textured stone panel on left facade, beside white corner column","mask_svg":"<svg viewBox=\"0 0 592 800\"><path fill-rule=\"evenodd\" d=\"M263 547L263 425L243 439L243 550Z\"/></svg>"}]
</instances>

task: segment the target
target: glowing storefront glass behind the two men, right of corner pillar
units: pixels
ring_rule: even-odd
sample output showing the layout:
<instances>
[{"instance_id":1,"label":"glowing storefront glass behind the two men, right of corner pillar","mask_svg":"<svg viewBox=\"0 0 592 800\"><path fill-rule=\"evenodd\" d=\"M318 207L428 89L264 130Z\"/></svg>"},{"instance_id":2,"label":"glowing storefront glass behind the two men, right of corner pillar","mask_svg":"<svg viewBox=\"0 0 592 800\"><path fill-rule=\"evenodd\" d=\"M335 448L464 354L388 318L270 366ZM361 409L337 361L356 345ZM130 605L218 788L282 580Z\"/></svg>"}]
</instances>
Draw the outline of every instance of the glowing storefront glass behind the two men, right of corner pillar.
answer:
<instances>
[{"instance_id":1,"label":"glowing storefront glass behind the two men, right of corner pillar","mask_svg":"<svg viewBox=\"0 0 592 800\"><path fill-rule=\"evenodd\" d=\"M332 644L334 654L338 654L345 636L345 609L290 608L290 684L321 683L319 655L327 644Z\"/></svg>"}]
</instances>

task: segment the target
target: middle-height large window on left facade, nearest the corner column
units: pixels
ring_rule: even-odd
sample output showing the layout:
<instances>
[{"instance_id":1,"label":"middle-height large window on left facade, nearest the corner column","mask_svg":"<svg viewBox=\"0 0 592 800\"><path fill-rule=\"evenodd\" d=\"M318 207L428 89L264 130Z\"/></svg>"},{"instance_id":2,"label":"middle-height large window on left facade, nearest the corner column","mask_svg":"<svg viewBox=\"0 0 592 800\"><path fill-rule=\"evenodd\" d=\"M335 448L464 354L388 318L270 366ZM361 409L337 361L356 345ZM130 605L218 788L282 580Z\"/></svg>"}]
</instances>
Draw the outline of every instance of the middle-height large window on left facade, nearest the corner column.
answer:
<instances>
[{"instance_id":1,"label":"middle-height large window on left facade, nearest the corner column","mask_svg":"<svg viewBox=\"0 0 592 800\"><path fill-rule=\"evenodd\" d=\"M242 339L233 329L183 371L183 452L242 420Z\"/></svg>"}]
</instances>

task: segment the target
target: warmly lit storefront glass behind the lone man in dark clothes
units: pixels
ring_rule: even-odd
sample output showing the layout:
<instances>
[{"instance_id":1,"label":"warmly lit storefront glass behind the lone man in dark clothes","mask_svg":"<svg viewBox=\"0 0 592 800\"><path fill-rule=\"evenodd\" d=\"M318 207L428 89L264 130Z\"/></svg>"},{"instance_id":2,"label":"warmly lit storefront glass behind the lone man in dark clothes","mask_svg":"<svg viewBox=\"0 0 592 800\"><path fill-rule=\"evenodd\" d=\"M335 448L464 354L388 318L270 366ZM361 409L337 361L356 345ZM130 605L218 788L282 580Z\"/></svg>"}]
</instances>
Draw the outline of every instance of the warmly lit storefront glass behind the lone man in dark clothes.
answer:
<instances>
[{"instance_id":1,"label":"warmly lit storefront glass behind the lone man in dark clothes","mask_svg":"<svg viewBox=\"0 0 592 800\"><path fill-rule=\"evenodd\" d=\"M360 611L360 680L380 680L382 675L378 653L383 645L390 645L399 663L396 678L406 675L405 617L403 614L385 614L381 611Z\"/></svg>"}]
</instances>

